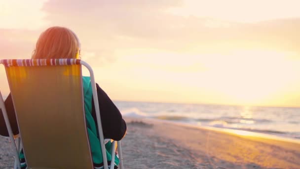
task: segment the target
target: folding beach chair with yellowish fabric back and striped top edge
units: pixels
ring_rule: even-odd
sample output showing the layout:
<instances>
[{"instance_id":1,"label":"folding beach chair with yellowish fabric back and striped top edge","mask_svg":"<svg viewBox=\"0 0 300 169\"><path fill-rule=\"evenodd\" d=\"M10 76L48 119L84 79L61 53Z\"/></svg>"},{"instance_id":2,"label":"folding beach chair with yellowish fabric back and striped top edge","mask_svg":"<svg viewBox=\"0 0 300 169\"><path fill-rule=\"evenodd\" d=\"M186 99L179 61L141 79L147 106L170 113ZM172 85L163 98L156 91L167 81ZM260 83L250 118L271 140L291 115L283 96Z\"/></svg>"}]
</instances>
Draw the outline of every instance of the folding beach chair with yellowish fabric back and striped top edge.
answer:
<instances>
[{"instance_id":1,"label":"folding beach chair with yellowish fabric back and striped top edge","mask_svg":"<svg viewBox=\"0 0 300 169\"><path fill-rule=\"evenodd\" d=\"M108 169L94 74L86 62L78 59L13 59L0 60L0 64L5 67L20 131L17 139L0 93L0 108L9 137L14 140L15 169L20 168L21 145L27 169L94 168L84 114L82 65L90 73L104 169ZM114 167L115 142L112 142L111 169ZM123 169L120 141L117 147L119 167Z\"/></svg>"}]
</instances>

